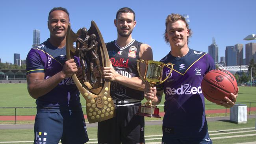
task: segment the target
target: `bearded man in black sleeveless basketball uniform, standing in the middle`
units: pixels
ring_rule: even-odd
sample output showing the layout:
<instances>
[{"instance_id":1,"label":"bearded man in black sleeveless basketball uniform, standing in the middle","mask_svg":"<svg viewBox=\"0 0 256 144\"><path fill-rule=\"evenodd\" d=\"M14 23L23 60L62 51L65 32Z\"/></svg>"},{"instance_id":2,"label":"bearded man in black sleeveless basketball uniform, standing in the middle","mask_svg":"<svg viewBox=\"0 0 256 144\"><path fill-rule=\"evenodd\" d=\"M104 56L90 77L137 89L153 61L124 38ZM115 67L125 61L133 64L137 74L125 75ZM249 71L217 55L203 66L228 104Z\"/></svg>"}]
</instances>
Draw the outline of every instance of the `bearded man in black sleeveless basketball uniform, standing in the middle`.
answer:
<instances>
[{"instance_id":1,"label":"bearded man in black sleeveless basketball uniform, standing in the middle","mask_svg":"<svg viewBox=\"0 0 256 144\"><path fill-rule=\"evenodd\" d=\"M136 25L132 9L119 9L114 23L117 40L106 44L113 67L105 67L103 76L111 81L110 95L116 111L114 118L98 122L98 143L144 144L144 117L135 114L145 89L137 71L137 59L152 60L152 49L148 44L132 39ZM145 66L141 66L140 71L145 72Z\"/></svg>"}]
</instances>

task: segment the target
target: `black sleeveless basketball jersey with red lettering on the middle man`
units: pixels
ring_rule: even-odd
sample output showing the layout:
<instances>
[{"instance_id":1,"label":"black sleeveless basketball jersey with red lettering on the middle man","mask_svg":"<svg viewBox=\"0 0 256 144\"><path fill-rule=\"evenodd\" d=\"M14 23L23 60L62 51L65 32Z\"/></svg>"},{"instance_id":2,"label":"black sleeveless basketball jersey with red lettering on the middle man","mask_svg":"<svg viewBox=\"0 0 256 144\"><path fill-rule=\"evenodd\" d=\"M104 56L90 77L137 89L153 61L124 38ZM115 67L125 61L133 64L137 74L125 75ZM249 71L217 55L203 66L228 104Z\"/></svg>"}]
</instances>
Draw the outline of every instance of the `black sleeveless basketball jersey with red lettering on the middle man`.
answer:
<instances>
[{"instance_id":1,"label":"black sleeveless basketball jersey with red lettering on the middle man","mask_svg":"<svg viewBox=\"0 0 256 144\"><path fill-rule=\"evenodd\" d=\"M141 44L141 42L135 40L122 48L118 46L116 41L106 44L109 59L118 74L128 78L139 77L137 59L139 59L139 48ZM117 82L111 82L110 95L113 100L144 99L143 91L131 89Z\"/></svg>"}]
</instances>

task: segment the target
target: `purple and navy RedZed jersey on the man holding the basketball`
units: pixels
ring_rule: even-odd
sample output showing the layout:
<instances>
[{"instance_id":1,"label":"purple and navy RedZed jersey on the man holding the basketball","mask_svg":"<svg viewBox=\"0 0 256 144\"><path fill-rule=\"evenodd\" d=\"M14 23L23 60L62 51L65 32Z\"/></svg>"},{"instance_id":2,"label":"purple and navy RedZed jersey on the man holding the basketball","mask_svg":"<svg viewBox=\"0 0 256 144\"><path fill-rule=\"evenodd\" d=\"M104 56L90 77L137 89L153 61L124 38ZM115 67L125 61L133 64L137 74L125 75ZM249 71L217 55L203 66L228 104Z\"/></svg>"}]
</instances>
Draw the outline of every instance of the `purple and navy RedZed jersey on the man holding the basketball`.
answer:
<instances>
[{"instance_id":1,"label":"purple and navy RedZed jersey on the man holding the basketball","mask_svg":"<svg viewBox=\"0 0 256 144\"><path fill-rule=\"evenodd\" d=\"M201 81L215 68L213 59L207 53L189 49L184 57L169 53L161 62L175 64L171 77L157 85L157 90L165 93L163 133L173 138L204 138L208 127ZM164 68L163 78L169 72Z\"/></svg>"}]
</instances>

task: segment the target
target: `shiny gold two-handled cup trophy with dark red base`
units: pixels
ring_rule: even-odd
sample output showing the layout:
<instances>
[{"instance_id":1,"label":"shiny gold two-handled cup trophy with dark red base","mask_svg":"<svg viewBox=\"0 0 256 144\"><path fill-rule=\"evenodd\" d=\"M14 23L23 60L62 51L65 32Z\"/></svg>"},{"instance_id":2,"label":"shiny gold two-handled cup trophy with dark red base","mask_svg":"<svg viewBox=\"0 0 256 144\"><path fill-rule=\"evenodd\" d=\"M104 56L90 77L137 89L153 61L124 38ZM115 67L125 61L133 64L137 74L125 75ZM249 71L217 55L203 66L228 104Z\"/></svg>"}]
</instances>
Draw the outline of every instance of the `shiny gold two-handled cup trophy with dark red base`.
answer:
<instances>
[{"instance_id":1,"label":"shiny gold two-handled cup trophy with dark red base","mask_svg":"<svg viewBox=\"0 0 256 144\"><path fill-rule=\"evenodd\" d=\"M141 73L139 70L140 62L146 64L144 76L141 76ZM166 76L166 78L162 80L164 66L167 68L170 68L171 71L168 74L168 76ZM172 63L165 64L160 61L145 61L143 59L140 59L140 60L137 60L137 70L139 72L139 76L141 77L141 79L144 82L148 83L151 87L153 87L154 85L163 83L171 76L171 73L173 71L173 64ZM156 105L152 103L151 100L148 100L146 103L143 103L141 104L141 106L139 106L139 113L137 113L137 115L160 118L159 109L156 107Z\"/></svg>"}]
</instances>

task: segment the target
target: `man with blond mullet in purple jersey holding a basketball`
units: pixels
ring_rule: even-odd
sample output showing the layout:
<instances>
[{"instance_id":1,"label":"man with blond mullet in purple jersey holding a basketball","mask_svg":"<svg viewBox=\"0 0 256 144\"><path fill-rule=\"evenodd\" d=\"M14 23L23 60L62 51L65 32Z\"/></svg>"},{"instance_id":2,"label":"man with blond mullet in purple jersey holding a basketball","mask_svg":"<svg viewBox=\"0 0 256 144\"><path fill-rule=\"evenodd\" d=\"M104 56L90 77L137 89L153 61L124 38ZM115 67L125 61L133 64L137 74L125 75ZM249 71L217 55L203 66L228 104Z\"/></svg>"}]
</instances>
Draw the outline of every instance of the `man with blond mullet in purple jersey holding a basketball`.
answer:
<instances>
[{"instance_id":1,"label":"man with blond mullet in purple jersey holding a basketball","mask_svg":"<svg viewBox=\"0 0 256 144\"><path fill-rule=\"evenodd\" d=\"M163 117L163 144L212 144L208 134L205 115L204 96L201 81L215 64L211 56L188 47L188 37L192 32L186 19L178 14L168 15L165 21L165 41L170 44L171 52L161 62L173 63L171 77L161 85L146 85L145 98L159 104L165 93ZM170 70L164 68L163 78ZM238 89L237 89L238 93ZM232 107L237 94L230 94L217 105Z\"/></svg>"}]
</instances>

